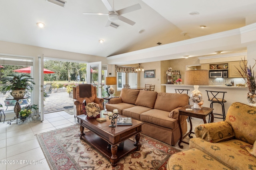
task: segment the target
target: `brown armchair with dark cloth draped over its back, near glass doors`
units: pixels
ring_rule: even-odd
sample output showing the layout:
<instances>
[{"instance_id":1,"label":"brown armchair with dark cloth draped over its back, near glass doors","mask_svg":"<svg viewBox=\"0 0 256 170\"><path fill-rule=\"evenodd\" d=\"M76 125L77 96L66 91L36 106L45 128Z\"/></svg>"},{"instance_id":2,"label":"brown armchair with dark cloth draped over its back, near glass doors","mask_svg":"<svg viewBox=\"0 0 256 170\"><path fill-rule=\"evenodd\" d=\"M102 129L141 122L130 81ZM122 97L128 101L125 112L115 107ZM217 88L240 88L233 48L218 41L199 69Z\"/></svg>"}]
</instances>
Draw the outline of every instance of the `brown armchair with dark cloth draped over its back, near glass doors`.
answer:
<instances>
[{"instance_id":1,"label":"brown armchair with dark cloth draped over its back, near glass doors","mask_svg":"<svg viewBox=\"0 0 256 170\"><path fill-rule=\"evenodd\" d=\"M73 87L75 116L84 114L82 110L82 103L84 100L86 100L86 104L91 102L99 104L100 109L104 110L104 99L98 98L96 92L96 86L93 86L92 84L78 84L76 87Z\"/></svg>"}]
</instances>

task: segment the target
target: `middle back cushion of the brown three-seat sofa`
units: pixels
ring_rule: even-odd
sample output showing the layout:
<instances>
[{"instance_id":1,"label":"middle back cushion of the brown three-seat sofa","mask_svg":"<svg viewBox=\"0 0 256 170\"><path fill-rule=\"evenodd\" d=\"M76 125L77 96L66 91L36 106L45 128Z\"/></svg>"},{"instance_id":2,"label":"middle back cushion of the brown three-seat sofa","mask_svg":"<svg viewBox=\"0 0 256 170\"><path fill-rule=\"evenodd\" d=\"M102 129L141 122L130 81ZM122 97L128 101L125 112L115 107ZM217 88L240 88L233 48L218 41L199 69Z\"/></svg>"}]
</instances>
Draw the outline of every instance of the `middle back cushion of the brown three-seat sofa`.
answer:
<instances>
[{"instance_id":1,"label":"middle back cushion of the brown three-seat sofa","mask_svg":"<svg viewBox=\"0 0 256 170\"><path fill-rule=\"evenodd\" d=\"M135 102L136 106L144 106L154 109L154 105L156 102L157 92L148 91L148 90L140 90L137 100Z\"/></svg>"}]
</instances>

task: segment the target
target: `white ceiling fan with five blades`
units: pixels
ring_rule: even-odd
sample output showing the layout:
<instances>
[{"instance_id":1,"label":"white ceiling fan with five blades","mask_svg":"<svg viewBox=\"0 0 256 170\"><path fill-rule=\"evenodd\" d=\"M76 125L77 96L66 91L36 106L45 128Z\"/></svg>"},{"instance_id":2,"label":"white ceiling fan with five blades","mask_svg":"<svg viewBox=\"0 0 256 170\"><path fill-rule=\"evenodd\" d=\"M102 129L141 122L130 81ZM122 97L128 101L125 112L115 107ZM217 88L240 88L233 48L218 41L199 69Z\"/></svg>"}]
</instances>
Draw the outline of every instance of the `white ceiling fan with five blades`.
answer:
<instances>
[{"instance_id":1,"label":"white ceiling fan with five blades","mask_svg":"<svg viewBox=\"0 0 256 170\"><path fill-rule=\"evenodd\" d=\"M108 21L106 23L106 27L108 27L111 22L117 21L117 20L121 20L121 21L123 21L125 23L128 23L130 25L135 24L134 21L123 17L122 14L126 14L128 12L133 12L133 11L136 11L136 10L140 10L141 9L140 4L135 4L135 5L123 8L121 10L115 11L114 8L112 8L110 3L108 2L108 0L102 0L102 2L106 6L106 8L108 9L108 13L86 13L86 12L84 12L83 14L85 14L85 15L107 15L108 16Z\"/></svg>"}]
</instances>

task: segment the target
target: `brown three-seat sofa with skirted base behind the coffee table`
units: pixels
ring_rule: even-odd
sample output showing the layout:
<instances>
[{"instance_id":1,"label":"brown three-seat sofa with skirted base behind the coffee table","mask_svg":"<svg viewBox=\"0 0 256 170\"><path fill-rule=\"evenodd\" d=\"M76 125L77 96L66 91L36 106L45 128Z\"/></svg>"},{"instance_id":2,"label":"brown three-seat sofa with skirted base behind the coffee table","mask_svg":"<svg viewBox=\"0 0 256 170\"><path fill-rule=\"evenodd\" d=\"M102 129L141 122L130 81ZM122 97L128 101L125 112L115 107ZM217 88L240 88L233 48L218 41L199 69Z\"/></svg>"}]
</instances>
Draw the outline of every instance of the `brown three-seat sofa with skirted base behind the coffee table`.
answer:
<instances>
[{"instance_id":1,"label":"brown three-seat sofa with skirted base behind the coffee table","mask_svg":"<svg viewBox=\"0 0 256 170\"><path fill-rule=\"evenodd\" d=\"M142 134L175 145L180 138L178 109L188 105L188 99L187 94L123 88L120 98L110 99L106 109L118 109L118 114L144 122ZM186 118L183 116L181 119L183 133L187 131Z\"/></svg>"}]
</instances>

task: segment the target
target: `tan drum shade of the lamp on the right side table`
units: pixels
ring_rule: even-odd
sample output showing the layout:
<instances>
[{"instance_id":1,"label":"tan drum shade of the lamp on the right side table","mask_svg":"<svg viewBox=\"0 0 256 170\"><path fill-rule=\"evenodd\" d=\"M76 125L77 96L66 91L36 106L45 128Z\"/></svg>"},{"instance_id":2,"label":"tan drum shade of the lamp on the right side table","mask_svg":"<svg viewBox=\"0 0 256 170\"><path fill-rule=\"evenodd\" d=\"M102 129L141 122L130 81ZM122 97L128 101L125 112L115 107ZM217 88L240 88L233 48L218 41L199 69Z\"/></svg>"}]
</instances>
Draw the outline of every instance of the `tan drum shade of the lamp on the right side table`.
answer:
<instances>
[{"instance_id":1,"label":"tan drum shade of the lamp on the right side table","mask_svg":"<svg viewBox=\"0 0 256 170\"><path fill-rule=\"evenodd\" d=\"M208 70L185 71L185 85L209 85Z\"/></svg>"}]
</instances>

